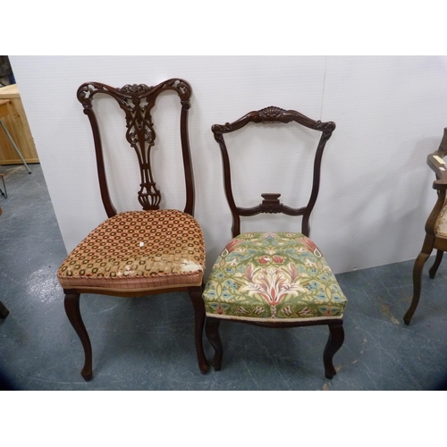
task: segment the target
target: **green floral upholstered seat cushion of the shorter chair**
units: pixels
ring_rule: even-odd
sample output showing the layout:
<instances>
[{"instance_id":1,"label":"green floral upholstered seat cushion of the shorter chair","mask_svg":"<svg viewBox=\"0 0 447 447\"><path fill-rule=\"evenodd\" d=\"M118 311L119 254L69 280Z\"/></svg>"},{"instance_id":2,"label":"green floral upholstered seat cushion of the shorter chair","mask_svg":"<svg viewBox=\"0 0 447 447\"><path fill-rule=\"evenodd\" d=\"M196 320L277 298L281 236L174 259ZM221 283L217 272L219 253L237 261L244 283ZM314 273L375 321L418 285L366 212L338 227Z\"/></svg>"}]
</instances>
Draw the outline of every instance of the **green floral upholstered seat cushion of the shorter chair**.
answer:
<instances>
[{"instance_id":1,"label":"green floral upholstered seat cushion of the shorter chair","mask_svg":"<svg viewBox=\"0 0 447 447\"><path fill-rule=\"evenodd\" d=\"M207 316L265 322L342 318L346 306L319 249L291 232L243 233L231 240L203 298Z\"/></svg>"}]
</instances>

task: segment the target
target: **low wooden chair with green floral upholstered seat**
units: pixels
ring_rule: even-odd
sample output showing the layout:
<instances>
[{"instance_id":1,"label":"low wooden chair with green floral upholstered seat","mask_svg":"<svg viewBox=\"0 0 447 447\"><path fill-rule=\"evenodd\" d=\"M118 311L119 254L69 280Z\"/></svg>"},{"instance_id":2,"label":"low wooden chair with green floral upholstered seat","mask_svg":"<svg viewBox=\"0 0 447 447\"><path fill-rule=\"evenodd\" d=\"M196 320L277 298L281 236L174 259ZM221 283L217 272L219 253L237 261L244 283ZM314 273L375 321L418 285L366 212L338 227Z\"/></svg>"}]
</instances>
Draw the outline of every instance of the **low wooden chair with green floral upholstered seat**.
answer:
<instances>
[{"instance_id":1,"label":"low wooden chair with green floral upholstered seat","mask_svg":"<svg viewBox=\"0 0 447 447\"><path fill-rule=\"evenodd\" d=\"M282 132L290 126L300 125L321 134L316 134L319 142L313 185L305 207L283 205L279 199L281 194L277 193L261 194L263 200L256 207L239 207L235 203L230 156L223 136L239 131L247 124L259 126L270 123L275 123ZM286 111L274 106L250 112L235 122L212 127L222 152L224 190L232 212L233 238L215 261L203 294L207 339L215 349L212 361L215 370L221 368L223 357L219 324L222 320L232 320L274 328L327 325L329 339L323 354L325 376L332 378L336 374L333 355L342 347L344 340L342 324L346 298L325 257L308 238L309 217L320 183L321 158L334 129L333 122L313 121L294 110ZM308 130L305 132L309 133ZM233 136L234 142L236 136ZM237 153L240 154L241 150L238 148ZM290 150L290 163L296 150ZM236 150L233 156L236 156ZM280 159L278 163L281 166L284 160ZM271 169L270 164L266 168ZM299 178L299 173L296 178ZM240 217L259 213L301 216L301 232L240 232Z\"/></svg>"}]
</instances>

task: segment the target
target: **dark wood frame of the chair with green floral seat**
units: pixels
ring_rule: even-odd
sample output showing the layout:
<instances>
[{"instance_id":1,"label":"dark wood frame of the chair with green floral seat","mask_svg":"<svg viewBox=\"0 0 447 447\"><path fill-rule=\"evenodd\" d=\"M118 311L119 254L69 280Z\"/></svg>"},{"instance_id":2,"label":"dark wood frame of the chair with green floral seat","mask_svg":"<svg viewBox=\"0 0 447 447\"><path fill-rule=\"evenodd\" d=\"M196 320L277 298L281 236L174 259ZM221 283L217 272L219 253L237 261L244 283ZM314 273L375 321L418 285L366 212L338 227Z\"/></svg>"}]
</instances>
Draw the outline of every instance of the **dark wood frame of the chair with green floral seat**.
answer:
<instances>
[{"instance_id":1,"label":"dark wood frame of the chair with green floral seat","mask_svg":"<svg viewBox=\"0 0 447 447\"><path fill-rule=\"evenodd\" d=\"M314 131L320 131L321 137L319 139L315 158L314 158L314 174L313 183L310 197L308 199L308 204L305 207L288 207L280 202L279 198L281 194L279 193L263 193L261 197L262 202L257 207L244 208L238 207L235 203L232 194L232 177L230 168L230 156L225 145L224 134L233 131L238 131L245 125L249 123L291 123L296 122L302 126L312 129ZM318 190L320 186L320 173L321 173L321 160L323 152L325 150L325 144L328 139L331 138L333 131L335 130L334 122L320 122L314 121L307 116L300 114L294 110L283 110L279 107L266 107L265 109L259 111L253 111L249 114L245 114L239 120L232 123L225 123L223 125L215 124L212 126L211 130L214 133L215 140L217 141L219 147L221 148L222 160L223 160L223 184L225 195L228 200L228 204L232 211L232 237L236 237L240 234L240 217L241 216L252 216L258 215L260 213L269 214L285 214L291 216L302 216L301 220L301 232L306 236L309 236L309 217L316 204L316 198L318 197ZM207 334L207 339L214 347L215 356L211 362L212 367L215 370L219 370L222 367L223 358L223 346L219 334L219 324L220 318L215 316L207 316L205 332ZM277 322L255 322L249 320L232 320L233 322L244 323L248 325L257 325L265 327L274 328L284 328L284 327L299 327L299 326L309 326L309 325L327 325L329 328L329 338L325 346L325 351L323 355L324 365L325 365L325 376L329 379L333 378L336 374L335 368L333 367L333 356L342 347L344 340L343 332L343 321L342 319L321 319L314 321L300 321L300 322L290 322L287 320L279 320Z\"/></svg>"}]
</instances>

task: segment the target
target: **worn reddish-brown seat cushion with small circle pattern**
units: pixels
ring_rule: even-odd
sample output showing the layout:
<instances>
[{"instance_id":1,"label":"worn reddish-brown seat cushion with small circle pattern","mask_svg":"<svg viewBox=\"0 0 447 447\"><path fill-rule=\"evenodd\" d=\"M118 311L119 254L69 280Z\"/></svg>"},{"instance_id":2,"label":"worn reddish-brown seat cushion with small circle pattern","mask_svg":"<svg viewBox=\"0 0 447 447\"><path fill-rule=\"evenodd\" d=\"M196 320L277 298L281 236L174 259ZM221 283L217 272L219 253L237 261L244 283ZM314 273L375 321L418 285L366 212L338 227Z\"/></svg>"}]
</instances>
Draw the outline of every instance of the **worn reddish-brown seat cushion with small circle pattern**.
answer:
<instances>
[{"instance_id":1,"label":"worn reddish-brown seat cushion with small circle pattern","mask_svg":"<svg viewBox=\"0 0 447 447\"><path fill-rule=\"evenodd\" d=\"M203 234L191 215L130 211L90 232L57 277L64 289L135 292L199 286L204 269Z\"/></svg>"}]
</instances>

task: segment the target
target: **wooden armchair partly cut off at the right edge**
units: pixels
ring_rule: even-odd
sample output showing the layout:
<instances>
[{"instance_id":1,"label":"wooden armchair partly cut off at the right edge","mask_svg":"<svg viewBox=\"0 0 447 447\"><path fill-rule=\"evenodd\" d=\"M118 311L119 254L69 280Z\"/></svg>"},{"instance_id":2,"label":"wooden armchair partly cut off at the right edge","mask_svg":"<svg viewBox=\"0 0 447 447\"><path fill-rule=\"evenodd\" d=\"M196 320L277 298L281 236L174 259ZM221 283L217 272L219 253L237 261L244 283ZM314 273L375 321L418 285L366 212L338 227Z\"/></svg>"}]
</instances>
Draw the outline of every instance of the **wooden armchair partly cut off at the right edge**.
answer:
<instances>
[{"instance_id":1,"label":"wooden armchair partly cut off at the right edge","mask_svg":"<svg viewBox=\"0 0 447 447\"><path fill-rule=\"evenodd\" d=\"M426 163L432 168L436 176L433 188L436 190L438 199L434 204L434 208L426 221L426 239L422 246L422 250L416 258L413 266L413 298L407 313L403 317L406 325L414 315L417 303L419 302L421 292L422 270L426 264L426 260L432 251L436 250L433 266L428 270L430 278L434 278L438 267L443 260L443 253L447 251L447 201L445 191L447 190L447 164L443 157L447 155L447 127L444 129L441 145L433 154L426 157Z\"/></svg>"}]
</instances>

